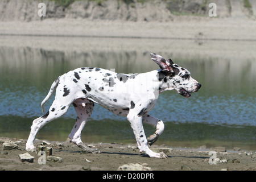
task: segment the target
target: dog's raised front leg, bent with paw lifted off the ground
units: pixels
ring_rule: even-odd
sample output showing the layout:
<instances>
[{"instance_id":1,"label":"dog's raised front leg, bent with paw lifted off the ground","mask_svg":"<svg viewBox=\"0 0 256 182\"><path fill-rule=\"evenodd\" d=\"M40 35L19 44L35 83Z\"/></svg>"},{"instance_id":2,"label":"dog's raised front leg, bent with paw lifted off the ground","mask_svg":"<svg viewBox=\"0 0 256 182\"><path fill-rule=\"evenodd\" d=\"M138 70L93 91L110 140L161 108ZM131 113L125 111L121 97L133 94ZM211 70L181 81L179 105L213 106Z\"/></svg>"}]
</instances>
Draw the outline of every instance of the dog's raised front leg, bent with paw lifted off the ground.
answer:
<instances>
[{"instance_id":1,"label":"dog's raised front leg, bent with paw lifted off the ground","mask_svg":"<svg viewBox=\"0 0 256 182\"><path fill-rule=\"evenodd\" d=\"M150 135L150 137L147 137L147 144L153 144L158 140L160 134L163 133L164 130L164 123L158 118L152 117L149 114L144 114L142 117L142 122L147 123L153 127L155 127L156 131L154 134Z\"/></svg>"}]
</instances>

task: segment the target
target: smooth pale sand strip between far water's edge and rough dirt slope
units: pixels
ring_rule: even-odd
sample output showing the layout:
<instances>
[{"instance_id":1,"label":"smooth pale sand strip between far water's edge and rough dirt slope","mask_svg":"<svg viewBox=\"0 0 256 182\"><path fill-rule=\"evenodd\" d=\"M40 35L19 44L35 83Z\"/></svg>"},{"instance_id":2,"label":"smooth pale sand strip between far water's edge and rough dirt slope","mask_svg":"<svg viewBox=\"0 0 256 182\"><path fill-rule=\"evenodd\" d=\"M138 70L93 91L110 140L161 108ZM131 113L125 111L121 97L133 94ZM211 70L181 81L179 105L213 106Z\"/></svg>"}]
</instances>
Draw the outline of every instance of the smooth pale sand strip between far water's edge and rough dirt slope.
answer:
<instances>
[{"instance_id":1,"label":"smooth pale sand strip between far water's edge and rough dirt slope","mask_svg":"<svg viewBox=\"0 0 256 182\"><path fill-rule=\"evenodd\" d=\"M0 35L256 40L255 21L240 18L177 16L166 23L65 18L0 22L0 27Z\"/></svg>"}]
</instances>

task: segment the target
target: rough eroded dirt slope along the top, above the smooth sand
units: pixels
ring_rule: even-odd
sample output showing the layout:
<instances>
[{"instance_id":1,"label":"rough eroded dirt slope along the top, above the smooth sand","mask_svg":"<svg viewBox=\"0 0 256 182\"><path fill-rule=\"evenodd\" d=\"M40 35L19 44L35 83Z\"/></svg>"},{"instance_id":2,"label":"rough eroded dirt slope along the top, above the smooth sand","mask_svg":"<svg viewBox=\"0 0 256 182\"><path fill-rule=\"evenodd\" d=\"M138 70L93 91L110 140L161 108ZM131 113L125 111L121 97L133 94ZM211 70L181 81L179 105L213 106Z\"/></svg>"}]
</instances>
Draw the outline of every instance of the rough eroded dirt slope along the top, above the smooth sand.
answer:
<instances>
[{"instance_id":1,"label":"rough eroded dirt slope along the top, above the smooth sand","mask_svg":"<svg viewBox=\"0 0 256 182\"><path fill-rule=\"evenodd\" d=\"M46 17L39 17L40 1L0 1L0 21L54 19L122 20L132 22L172 22L176 16L208 16L212 1L44 1ZM253 0L216 0L218 18L255 19Z\"/></svg>"}]
</instances>

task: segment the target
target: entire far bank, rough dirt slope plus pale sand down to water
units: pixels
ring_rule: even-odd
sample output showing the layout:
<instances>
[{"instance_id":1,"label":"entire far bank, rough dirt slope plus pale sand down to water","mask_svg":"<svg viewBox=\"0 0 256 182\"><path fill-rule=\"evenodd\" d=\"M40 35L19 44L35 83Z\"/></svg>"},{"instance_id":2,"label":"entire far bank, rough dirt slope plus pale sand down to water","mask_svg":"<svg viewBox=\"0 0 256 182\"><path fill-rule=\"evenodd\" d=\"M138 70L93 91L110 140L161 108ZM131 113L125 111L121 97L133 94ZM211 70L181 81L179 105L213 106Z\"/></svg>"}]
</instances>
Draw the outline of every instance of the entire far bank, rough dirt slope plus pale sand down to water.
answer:
<instances>
[{"instance_id":1,"label":"entire far bank, rough dirt slope plus pale sand down to water","mask_svg":"<svg viewBox=\"0 0 256 182\"><path fill-rule=\"evenodd\" d=\"M208 1L0 1L0 35L256 40L256 3L217 0L217 17ZM129 3L128 3L129 2Z\"/></svg>"}]
</instances>

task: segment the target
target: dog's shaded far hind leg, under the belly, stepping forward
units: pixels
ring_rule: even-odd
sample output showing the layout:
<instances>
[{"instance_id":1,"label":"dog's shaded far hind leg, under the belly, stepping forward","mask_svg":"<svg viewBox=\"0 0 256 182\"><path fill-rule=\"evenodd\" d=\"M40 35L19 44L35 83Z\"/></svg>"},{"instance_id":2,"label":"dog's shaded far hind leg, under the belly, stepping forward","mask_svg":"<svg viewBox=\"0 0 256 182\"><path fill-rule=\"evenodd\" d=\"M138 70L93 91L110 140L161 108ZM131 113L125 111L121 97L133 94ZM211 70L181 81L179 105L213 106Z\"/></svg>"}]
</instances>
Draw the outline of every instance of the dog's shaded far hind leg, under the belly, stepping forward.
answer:
<instances>
[{"instance_id":1,"label":"dog's shaded far hind leg, under the belly, stepping forward","mask_svg":"<svg viewBox=\"0 0 256 182\"><path fill-rule=\"evenodd\" d=\"M93 111L93 102L78 99L73 102L73 106L75 107L77 118L71 133L68 135L68 138L71 139L71 141L75 143L77 146L82 148L82 150L84 150L85 152L89 152L92 154L100 153L100 151L97 148L89 148L84 143L82 143L81 140L82 129L86 125L86 122L88 121L88 118L90 117Z\"/></svg>"}]
</instances>

